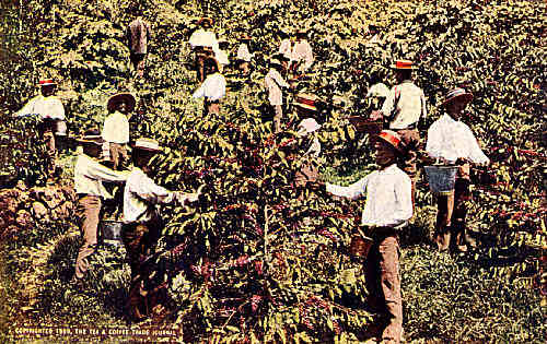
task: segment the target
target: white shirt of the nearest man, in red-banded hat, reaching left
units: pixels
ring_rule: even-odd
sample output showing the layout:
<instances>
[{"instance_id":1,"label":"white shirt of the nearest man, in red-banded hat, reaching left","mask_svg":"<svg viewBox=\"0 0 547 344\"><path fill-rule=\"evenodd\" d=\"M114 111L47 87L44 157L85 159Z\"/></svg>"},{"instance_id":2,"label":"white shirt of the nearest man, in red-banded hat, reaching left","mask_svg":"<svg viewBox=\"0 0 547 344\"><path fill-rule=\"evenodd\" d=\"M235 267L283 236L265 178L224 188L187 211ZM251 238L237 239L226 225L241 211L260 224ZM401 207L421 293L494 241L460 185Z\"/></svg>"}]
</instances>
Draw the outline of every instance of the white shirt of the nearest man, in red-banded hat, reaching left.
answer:
<instances>
[{"instance_id":1,"label":"white shirt of the nearest man, in red-banded hat, reaching left","mask_svg":"<svg viewBox=\"0 0 547 344\"><path fill-rule=\"evenodd\" d=\"M411 181L407 174L391 165L375 170L349 187L326 183L327 192L352 200L366 192L361 224L403 227L412 217Z\"/></svg>"}]
</instances>

